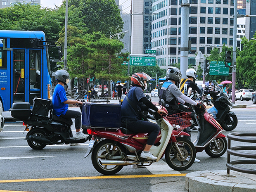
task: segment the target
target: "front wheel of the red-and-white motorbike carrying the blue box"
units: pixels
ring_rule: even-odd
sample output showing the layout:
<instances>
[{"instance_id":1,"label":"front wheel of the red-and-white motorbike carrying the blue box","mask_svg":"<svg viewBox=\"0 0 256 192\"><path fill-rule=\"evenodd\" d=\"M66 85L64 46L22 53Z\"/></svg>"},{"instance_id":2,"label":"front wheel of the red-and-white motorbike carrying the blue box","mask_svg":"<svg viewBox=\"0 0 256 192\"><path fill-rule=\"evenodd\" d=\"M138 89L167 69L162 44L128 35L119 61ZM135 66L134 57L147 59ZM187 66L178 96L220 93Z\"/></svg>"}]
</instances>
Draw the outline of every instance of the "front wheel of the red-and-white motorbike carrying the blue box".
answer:
<instances>
[{"instance_id":1,"label":"front wheel of the red-and-white motorbike carrying the blue box","mask_svg":"<svg viewBox=\"0 0 256 192\"><path fill-rule=\"evenodd\" d=\"M169 143L165 150L165 159L172 169L183 171L192 166L196 158L196 149L193 143L183 137L177 142Z\"/></svg>"}]
</instances>

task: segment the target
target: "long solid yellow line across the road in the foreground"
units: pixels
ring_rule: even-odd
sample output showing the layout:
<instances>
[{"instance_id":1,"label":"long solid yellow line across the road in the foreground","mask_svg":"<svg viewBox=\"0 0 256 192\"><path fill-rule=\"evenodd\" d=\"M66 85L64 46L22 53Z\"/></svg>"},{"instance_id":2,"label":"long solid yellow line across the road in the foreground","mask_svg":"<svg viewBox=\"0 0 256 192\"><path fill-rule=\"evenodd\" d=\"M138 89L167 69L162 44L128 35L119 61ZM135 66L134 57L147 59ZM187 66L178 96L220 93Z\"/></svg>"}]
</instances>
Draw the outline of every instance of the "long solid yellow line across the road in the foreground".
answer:
<instances>
[{"instance_id":1,"label":"long solid yellow line across the road in the foreground","mask_svg":"<svg viewBox=\"0 0 256 192\"><path fill-rule=\"evenodd\" d=\"M16 179L0 180L0 183L33 182L33 181L58 181L58 180L84 180L84 179L112 179L112 178L150 178L150 177L178 177L186 174L156 174L156 175L111 175L111 176L92 176L92 177L67 177L67 178L41 178L41 179ZM1 191L0 192L7 192Z\"/></svg>"}]
</instances>

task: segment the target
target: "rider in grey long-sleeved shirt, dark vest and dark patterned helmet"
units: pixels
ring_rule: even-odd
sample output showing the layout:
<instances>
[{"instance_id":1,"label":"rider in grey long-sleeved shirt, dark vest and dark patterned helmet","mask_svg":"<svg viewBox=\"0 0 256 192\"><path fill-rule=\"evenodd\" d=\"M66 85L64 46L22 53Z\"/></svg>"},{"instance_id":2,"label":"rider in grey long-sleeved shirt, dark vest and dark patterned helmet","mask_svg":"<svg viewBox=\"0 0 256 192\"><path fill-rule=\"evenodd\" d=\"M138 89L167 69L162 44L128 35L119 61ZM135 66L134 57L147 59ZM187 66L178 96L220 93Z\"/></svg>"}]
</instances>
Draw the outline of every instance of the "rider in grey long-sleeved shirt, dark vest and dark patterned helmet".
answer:
<instances>
[{"instance_id":1,"label":"rider in grey long-sleeved shirt, dark vest and dark patterned helmet","mask_svg":"<svg viewBox=\"0 0 256 192\"><path fill-rule=\"evenodd\" d=\"M202 104L194 102L192 99L184 95L177 85L180 84L181 72L177 67L170 67L166 71L166 82L164 82L159 95L159 104L161 104L161 99L165 101L165 107L168 111L168 115L178 113L179 105L178 102L185 104L185 102L196 105L199 109L203 108ZM190 128L184 130L187 133L191 133ZM187 139L191 140L190 137ZM200 160L195 159L195 163L199 163Z\"/></svg>"}]
</instances>

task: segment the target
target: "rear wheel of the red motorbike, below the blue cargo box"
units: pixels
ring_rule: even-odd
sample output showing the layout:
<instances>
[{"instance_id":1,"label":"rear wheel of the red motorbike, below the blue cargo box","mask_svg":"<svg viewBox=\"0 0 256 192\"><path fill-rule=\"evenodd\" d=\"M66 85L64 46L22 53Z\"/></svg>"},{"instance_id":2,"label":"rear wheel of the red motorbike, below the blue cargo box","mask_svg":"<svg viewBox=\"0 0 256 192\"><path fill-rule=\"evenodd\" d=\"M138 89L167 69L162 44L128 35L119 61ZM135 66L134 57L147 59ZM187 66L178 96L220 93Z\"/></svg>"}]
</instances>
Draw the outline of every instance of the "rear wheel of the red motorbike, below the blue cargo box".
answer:
<instances>
[{"instance_id":1,"label":"rear wheel of the red motorbike, below the blue cargo box","mask_svg":"<svg viewBox=\"0 0 256 192\"><path fill-rule=\"evenodd\" d=\"M124 150L123 146L119 143L116 143L115 145L112 140L102 140L92 151L92 165L99 173L113 175L119 172L123 168L123 165L102 165L100 160L114 159L122 161L121 154ZM113 158L114 156L119 156L119 158Z\"/></svg>"}]
</instances>

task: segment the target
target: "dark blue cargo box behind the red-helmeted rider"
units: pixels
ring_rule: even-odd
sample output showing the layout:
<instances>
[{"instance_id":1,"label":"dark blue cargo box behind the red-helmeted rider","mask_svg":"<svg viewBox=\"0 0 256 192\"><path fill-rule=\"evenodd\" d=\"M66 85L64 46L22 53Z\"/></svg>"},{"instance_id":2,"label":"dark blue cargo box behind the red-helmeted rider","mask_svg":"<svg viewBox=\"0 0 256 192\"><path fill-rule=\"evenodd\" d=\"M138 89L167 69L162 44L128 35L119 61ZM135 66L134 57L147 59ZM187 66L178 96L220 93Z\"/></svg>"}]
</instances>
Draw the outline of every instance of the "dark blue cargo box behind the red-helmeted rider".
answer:
<instances>
[{"instance_id":1,"label":"dark blue cargo box behind the red-helmeted rider","mask_svg":"<svg viewBox=\"0 0 256 192\"><path fill-rule=\"evenodd\" d=\"M121 105L86 103L82 112L83 127L120 128Z\"/></svg>"}]
</instances>

